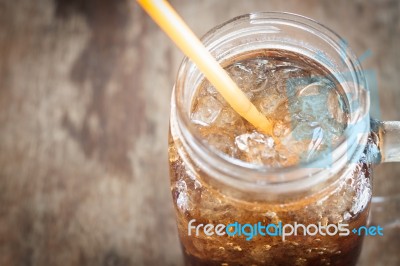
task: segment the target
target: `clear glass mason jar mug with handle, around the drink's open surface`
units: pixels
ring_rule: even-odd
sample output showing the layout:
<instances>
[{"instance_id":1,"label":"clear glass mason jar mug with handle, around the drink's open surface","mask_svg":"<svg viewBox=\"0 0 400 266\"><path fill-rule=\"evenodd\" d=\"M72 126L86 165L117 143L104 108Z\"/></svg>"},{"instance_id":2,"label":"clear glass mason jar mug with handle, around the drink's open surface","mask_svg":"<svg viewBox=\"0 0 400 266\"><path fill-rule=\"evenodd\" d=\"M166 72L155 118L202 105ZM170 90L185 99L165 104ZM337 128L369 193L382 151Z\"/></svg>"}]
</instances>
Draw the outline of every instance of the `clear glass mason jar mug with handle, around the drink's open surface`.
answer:
<instances>
[{"instance_id":1,"label":"clear glass mason jar mug with handle, around the drink's open surface","mask_svg":"<svg viewBox=\"0 0 400 266\"><path fill-rule=\"evenodd\" d=\"M328 28L289 13L239 16L202 41L222 65L262 49L312 58L340 83L349 113L327 156L282 168L244 163L216 152L192 124L192 103L204 76L185 58L172 93L168 153L186 265L355 265L363 234L353 231L367 222L371 163L399 160L393 148L399 126L371 127L369 91L354 54ZM246 224L251 228L233 235ZM304 227L283 237L296 224ZM263 233L263 225L273 226L261 227Z\"/></svg>"}]
</instances>

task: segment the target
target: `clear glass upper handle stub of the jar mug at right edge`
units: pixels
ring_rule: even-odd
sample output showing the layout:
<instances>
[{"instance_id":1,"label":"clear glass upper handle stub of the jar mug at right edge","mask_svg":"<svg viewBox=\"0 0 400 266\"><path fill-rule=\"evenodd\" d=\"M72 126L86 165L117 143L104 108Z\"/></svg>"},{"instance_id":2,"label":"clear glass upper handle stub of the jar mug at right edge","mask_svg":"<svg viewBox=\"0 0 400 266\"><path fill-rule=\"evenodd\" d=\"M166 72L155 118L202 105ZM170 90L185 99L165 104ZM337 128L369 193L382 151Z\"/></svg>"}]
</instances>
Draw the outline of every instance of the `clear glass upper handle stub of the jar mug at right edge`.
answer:
<instances>
[{"instance_id":1,"label":"clear glass upper handle stub of the jar mug at right edge","mask_svg":"<svg viewBox=\"0 0 400 266\"><path fill-rule=\"evenodd\" d=\"M400 162L400 121L374 121L372 124L379 136L380 162Z\"/></svg>"}]
</instances>

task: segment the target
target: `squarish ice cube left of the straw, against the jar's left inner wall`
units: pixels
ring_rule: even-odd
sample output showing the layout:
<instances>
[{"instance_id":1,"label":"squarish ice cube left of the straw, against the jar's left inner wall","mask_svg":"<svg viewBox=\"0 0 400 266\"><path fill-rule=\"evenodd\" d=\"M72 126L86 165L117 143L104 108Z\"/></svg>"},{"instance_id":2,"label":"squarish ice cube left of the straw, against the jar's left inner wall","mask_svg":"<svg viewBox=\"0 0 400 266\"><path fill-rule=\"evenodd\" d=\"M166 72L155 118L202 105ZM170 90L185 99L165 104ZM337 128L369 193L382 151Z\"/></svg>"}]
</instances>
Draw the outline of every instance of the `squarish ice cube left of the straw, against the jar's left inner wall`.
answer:
<instances>
[{"instance_id":1,"label":"squarish ice cube left of the straw, against the jar's left inner wall","mask_svg":"<svg viewBox=\"0 0 400 266\"><path fill-rule=\"evenodd\" d=\"M191 115L192 122L201 126L211 125L222 110L222 104L213 96L199 98Z\"/></svg>"}]
</instances>

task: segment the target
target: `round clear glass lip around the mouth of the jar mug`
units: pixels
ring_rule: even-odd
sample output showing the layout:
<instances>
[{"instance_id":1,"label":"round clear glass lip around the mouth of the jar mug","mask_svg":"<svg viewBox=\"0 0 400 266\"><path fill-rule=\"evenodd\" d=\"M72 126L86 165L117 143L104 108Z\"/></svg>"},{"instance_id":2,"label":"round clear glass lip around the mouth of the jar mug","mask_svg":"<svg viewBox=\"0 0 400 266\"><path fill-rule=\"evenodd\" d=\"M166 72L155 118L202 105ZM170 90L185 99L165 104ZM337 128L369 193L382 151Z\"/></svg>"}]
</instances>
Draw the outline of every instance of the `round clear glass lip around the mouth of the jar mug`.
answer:
<instances>
[{"instance_id":1,"label":"round clear glass lip around the mouth of the jar mug","mask_svg":"<svg viewBox=\"0 0 400 266\"><path fill-rule=\"evenodd\" d=\"M357 85L357 89L360 85L364 85L366 88L366 82L365 82L365 77L363 75L363 70L361 68L361 64L358 62L358 59L354 55L354 53L346 47L346 49L343 49L341 45L338 43L338 41L342 40L339 34L331 30L330 28L326 27L325 25L302 15L294 14L294 13L289 13L289 12L253 12L253 13L248 13L244 15L240 15L237 17L234 17L220 25L217 25L213 27L211 30L209 30L202 38L202 41L208 40L213 37L214 34L218 33L225 27L229 27L230 25L240 22L240 21L251 21L251 20L269 20L269 21L284 21L284 22L289 22L291 25L302 25L306 29L313 29L313 31L316 31L319 33L318 37L321 38L321 40L325 41L328 43L330 46L332 46L332 43L336 45L336 48L339 47L340 52L342 53L341 55L344 56L347 60L346 66L350 69L351 74L354 74L353 78L354 83ZM255 23L256 25L257 23ZM315 35L315 34L314 34ZM327 42L329 40L329 42ZM337 50L337 49L336 49ZM318 61L318 60L317 60ZM177 76L177 83L178 85L179 81L182 81L182 78L186 78L186 74L188 71L197 69L197 67L194 65L193 62L191 62L187 57L185 57L181 63L181 66L179 67L178 71L178 76ZM197 69L198 71L198 69ZM183 87L185 87L186 84L183 83ZM187 86L187 85L186 85ZM270 167L266 165L258 165L258 164L251 164L247 163L244 161L241 161L239 159L232 158L222 152L218 152L215 149L212 149L209 145L207 145L204 141L202 141L200 135L196 130L194 129L194 126L190 122L189 117L187 114L184 113L184 108L183 106L180 105L179 101L179 93L176 93L175 96L175 101L176 101L176 106L177 106L177 118L180 122L181 125L181 131L182 134L185 136L185 138L188 139L188 141L195 143L194 147L194 152L201 152L203 153L204 156L207 156L210 160L215 160L216 163L219 164L229 164L230 168L233 166L232 169L238 170L240 172L247 171L246 174L250 174L250 172L258 175L268 175L268 174L287 174L290 172L293 172L299 167L303 168L320 168L318 166L321 165L321 163L326 160L324 156L322 157L317 157L313 160L296 164L296 165L291 165L287 167ZM369 101L367 101L369 104ZM188 103L186 103L188 104ZM358 117L353 117L355 122L360 122L365 115L368 115L369 112L369 106L363 106L363 112L358 114ZM368 121L369 123L369 121ZM182 127L183 125L183 127ZM368 125L369 126L369 125ZM347 145L346 143L352 140L352 137L355 135L355 128L354 126L348 125L340 137L339 141L332 147L329 153L334 153L335 151L341 151L342 153L347 150ZM351 143L352 144L352 143ZM339 154L340 156L340 154ZM216 163L213 165L215 166ZM334 161L332 162L334 163ZM322 163L322 165L325 165ZM227 166L227 165L225 165ZM216 166L217 167L217 166ZM223 168L224 166L222 166ZM231 170L232 170L231 169ZM316 171L318 172L318 171ZM299 178L295 178L294 180L298 180ZM246 179L243 179L243 181L246 181ZM290 182L293 180L279 180L279 182L276 183L286 183ZM272 182L274 183L274 182Z\"/></svg>"}]
</instances>

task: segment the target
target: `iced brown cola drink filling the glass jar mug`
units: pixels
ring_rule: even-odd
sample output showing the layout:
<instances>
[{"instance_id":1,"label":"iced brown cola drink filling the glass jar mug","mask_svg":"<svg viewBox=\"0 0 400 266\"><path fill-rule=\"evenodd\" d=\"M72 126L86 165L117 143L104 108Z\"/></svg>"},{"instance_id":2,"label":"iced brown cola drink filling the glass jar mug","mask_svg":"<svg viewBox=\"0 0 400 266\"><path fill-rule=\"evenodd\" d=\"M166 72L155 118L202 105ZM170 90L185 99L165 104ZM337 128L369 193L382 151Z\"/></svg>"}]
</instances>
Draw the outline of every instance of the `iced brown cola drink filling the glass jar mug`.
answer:
<instances>
[{"instance_id":1,"label":"iced brown cola drink filling the glass jar mug","mask_svg":"<svg viewBox=\"0 0 400 266\"><path fill-rule=\"evenodd\" d=\"M301 168L332 152L348 126L349 103L335 77L317 61L279 49L236 55L225 70L246 96L273 121L272 135L240 117L217 90L203 80L193 96L190 120L195 135L210 152L243 167ZM172 122L171 122L172 124ZM226 194L192 158L171 126L171 191L186 265L355 265L371 198L371 167L354 162L334 184L303 197L254 200ZM364 157L361 157L364 158ZM322 166L328 167L328 166ZM335 178L335 177L334 177ZM242 193L243 194L243 193ZM199 224L345 224L341 236L208 235Z\"/></svg>"}]
</instances>

